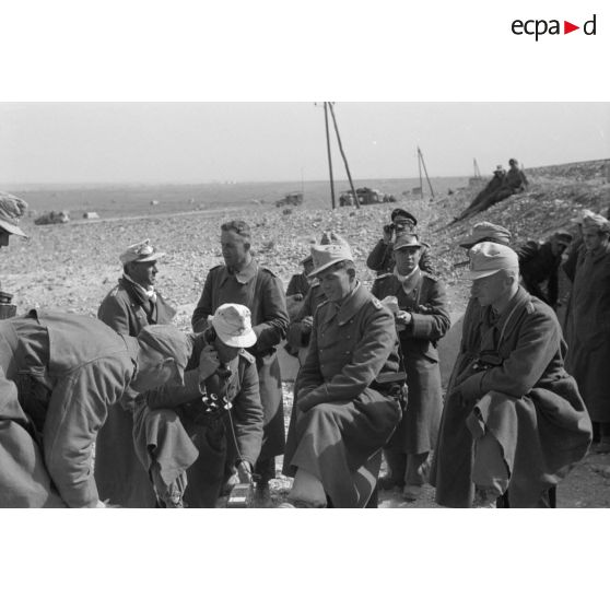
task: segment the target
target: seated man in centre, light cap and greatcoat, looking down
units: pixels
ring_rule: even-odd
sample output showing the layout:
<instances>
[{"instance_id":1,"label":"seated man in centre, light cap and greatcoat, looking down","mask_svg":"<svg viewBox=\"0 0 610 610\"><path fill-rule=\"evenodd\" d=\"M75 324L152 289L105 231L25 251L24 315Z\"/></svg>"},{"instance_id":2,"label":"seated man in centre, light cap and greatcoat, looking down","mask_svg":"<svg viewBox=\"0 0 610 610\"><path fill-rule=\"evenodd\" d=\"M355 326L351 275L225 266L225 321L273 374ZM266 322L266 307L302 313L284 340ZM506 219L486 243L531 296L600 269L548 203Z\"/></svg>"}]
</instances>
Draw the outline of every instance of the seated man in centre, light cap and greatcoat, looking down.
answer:
<instances>
[{"instance_id":1,"label":"seated man in centre, light cap and greatcoat, looking down","mask_svg":"<svg viewBox=\"0 0 610 610\"><path fill-rule=\"evenodd\" d=\"M399 371L394 316L357 281L345 243L312 247L328 301L314 314L309 352L295 384L284 474L286 507L364 507L382 447L400 421L385 373Z\"/></svg>"}]
</instances>

